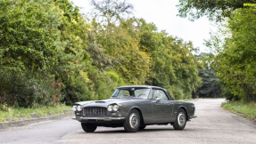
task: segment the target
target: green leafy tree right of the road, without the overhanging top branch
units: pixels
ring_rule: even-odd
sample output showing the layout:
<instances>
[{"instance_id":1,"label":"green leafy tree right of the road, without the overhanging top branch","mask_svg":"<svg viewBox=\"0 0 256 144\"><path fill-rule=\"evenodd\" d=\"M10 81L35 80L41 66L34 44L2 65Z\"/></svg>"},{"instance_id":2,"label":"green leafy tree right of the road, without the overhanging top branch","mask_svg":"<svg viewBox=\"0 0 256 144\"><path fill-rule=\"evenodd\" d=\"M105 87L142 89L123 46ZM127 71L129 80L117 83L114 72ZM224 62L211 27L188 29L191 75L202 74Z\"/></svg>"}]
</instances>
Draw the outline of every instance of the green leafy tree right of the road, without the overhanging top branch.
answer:
<instances>
[{"instance_id":1,"label":"green leafy tree right of the road, without the overhanging top branch","mask_svg":"<svg viewBox=\"0 0 256 144\"><path fill-rule=\"evenodd\" d=\"M255 13L254 8L233 12L227 23L231 35L228 34L223 51L219 52L215 59L215 69L228 91L234 97L254 101L256 101Z\"/></svg>"}]
</instances>

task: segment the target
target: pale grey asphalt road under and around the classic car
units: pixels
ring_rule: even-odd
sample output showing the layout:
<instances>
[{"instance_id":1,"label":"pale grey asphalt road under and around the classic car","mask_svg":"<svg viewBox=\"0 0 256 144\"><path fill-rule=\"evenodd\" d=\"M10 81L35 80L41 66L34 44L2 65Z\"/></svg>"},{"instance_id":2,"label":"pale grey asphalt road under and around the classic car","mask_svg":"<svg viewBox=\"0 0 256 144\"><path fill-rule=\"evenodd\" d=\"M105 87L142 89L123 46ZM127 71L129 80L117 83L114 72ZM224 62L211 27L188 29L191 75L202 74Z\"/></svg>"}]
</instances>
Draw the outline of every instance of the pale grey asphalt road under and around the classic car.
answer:
<instances>
[{"instance_id":1,"label":"pale grey asphalt road under and around the classic car","mask_svg":"<svg viewBox=\"0 0 256 144\"><path fill-rule=\"evenodd\" d=\"M223 99L192 100L198 116L183 131L171 125L147 126L144 131L125 132L123 128L99 127L94 133L84 132L70 118L29 124L0 132L0 143L256 143L256 123L220 108Z\"/></svg>"}]
</instances>

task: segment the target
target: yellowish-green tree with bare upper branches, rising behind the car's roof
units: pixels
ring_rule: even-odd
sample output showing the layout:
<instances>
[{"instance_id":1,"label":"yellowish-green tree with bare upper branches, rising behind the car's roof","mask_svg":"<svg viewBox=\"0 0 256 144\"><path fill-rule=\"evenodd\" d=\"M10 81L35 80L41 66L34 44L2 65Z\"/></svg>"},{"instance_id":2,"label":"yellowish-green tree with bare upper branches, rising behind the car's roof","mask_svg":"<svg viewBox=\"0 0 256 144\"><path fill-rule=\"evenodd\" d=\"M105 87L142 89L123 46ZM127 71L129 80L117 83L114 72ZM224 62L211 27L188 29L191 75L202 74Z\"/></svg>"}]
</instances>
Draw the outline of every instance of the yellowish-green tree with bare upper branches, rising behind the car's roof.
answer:
<instances>
[{"instance_id":1,"label":"yellowish-green tree with bare upper branches, rising behind the car's roof","mask_svg":"<svg viewBox=\"0 0 256 144\"><path fill-rule=\"evenodd\" d=\"M106 70L114 69L128 84L145 84L149 56L139 50L139 40L129 30L134 28L133 23L124 18L132 12L133 6L117 0L92 1L92 4L98 13L92 23L96 31L94 43L103 48L104 57L100 58L111 58L111 61L104 60L109 65Z\"/></svg>"}]
</instances>

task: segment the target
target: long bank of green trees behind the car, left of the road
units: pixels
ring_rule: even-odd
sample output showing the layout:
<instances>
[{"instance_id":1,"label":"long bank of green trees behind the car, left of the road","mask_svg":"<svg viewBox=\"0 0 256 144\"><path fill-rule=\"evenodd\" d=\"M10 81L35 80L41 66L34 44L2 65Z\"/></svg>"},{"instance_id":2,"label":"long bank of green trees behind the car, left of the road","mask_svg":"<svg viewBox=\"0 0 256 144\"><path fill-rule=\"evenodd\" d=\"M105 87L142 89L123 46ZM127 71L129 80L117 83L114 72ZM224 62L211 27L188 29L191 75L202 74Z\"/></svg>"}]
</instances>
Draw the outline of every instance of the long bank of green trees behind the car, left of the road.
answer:
<instances>
[{"instance_id":1,"label":"long bank of green trees behind the car, left of the road","mask_svg":"<svg viewBox=\"0 0 256 144\"><path fill-rule=\"evenodd\" d=\"M190 98L201 82L193 44L129 18L132 5L117 2L92 1L97 14L86 20L69 0L0 0L0 103L103 100L127 84Z\"/></svg>"}]
</instances>

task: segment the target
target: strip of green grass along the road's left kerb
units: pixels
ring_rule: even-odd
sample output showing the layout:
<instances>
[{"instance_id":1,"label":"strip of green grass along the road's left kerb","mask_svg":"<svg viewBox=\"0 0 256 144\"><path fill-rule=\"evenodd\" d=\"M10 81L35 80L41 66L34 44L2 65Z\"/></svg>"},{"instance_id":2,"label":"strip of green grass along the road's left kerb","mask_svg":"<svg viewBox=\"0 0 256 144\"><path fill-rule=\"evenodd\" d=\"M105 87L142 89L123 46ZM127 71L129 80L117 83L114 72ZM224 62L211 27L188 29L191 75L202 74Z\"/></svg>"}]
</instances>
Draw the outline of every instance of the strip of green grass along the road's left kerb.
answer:
<instances>
[{"instance_id":1,"label":"strip of green grass along the road's left kerb","mask_svg":"<svg viewBox=\"0 0 256 144\"><path fill-rule=\"evenodd\" d=\"M59 111L70 110L70 106L64 104L58 105L56 107L46 107L46 106L37 106L36 108L4 108L0 110L0 122L6 122L6 117L13 117L14 120L21 120L17 115L24 116L25 119L31 118L31 113L36 113L38 117L41 116L50 116L50 112L54 112L54 115L59 115Z\"/></svg>"}]
</instances>

